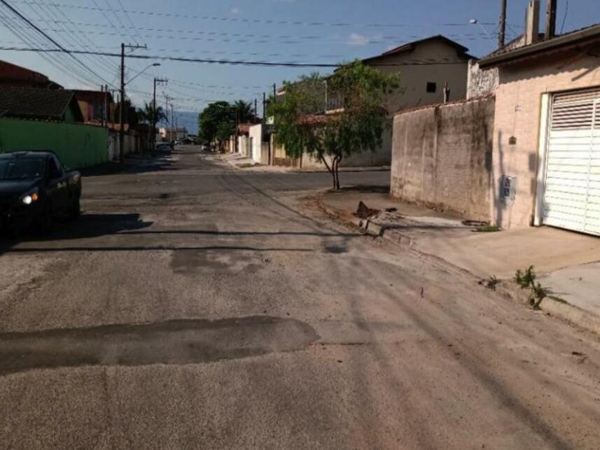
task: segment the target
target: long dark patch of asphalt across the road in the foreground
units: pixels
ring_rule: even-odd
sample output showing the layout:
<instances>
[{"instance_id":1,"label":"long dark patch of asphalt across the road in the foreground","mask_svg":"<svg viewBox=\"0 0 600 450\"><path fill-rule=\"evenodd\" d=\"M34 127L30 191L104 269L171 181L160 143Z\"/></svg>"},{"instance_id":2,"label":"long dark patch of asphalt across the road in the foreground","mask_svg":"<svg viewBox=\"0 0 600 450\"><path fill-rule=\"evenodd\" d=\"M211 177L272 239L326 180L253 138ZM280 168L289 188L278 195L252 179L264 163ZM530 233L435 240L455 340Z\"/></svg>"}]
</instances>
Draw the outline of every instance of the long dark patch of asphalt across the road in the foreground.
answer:
<instances>
[{"instance_id":1,"label":"long dark patch of asphalt across the road in the foreground","mask_svg":"<svg viewBox=\"0 0 600 450\"><path fill-rule=\"evenodd\" d=\"M291 318L253 316L0 335L0 374L59 367L182 365L298 351L314 328Z\"/></svg>"}]
</instances>

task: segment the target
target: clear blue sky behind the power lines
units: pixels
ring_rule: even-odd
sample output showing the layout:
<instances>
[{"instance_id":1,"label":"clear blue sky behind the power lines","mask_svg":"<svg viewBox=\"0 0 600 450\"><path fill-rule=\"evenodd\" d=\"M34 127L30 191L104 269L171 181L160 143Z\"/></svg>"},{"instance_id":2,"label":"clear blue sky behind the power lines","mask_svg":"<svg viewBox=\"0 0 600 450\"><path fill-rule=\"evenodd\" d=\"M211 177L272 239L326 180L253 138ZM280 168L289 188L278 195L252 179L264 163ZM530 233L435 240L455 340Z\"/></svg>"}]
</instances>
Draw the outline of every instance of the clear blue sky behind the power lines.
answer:
<instances>
[{"instance_id":1,"label":"clear blue sky behind the power lines","mask_svg":"<svg viewBox=\"0 0 600 450\"><path fill-rule=\"evenodd\" d=\"M139 54L335 63L367 57L417 38L444 34L476 56L494 50L500 0L8 0L66 48L116 52L120 43L146 43ZM542 1L544 4L545 1ZM564 31L600 22L598 0L570 0ZM527 0L508 0L508 37L522 32ZM567 0L559 0L559 30ZM543 8L544 9L544 8ZM127 13L123 12L126 10ZM544 11L542 11L544 13ZM0 46L25 45L8 25L32 30L0 8ZM196 16L196 17L193 17ZM469 24L477 18L482 25ZM25 27L25 28L24 28ZM36 38L33 38L36 39ZM51 46L51 45L48 45ZM58 59L57 59L58 58ZM118 59L80 57L81 72L66 56L52 64L39 55L0 50L0 59L27 66L65 87L118 85ZM131 78L150 62L128 61ZM150 99L153 76L169 78L163 92L179 111L200 111L207 101L262 98L272 84L309 69L162 62L130 85L137 104ZM260 101L259 101L260 104Z\"/></svg>"}]
</instances>

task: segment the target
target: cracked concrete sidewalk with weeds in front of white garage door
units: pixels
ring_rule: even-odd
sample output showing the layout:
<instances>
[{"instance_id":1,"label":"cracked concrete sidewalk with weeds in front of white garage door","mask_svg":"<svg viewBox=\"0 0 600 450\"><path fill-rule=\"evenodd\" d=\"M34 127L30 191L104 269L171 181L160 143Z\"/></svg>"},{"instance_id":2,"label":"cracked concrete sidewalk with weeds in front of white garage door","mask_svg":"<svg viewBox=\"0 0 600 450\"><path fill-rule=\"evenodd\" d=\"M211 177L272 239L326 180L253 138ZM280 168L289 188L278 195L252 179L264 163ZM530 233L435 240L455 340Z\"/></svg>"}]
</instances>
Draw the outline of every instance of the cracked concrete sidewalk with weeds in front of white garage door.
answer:
<instances>
[{"instance_id":1,"label":"cracked concrete sidewalk with weeds in front of white garage door","mask_svg":"<svg viewBox=\"0 0 600 450\"><path fill-rule=\"evenodd\" d=\"M358 218L361 201L382 212ZM552 297L567 302L545 300L542 308L600 334L599 238L551 227L477 232L455 213L393 199L377 189L326 192L320 202L329 213L384 239L409 244L480 279L507 280L503 286L515 291L513 297L523 297L512 283L515 272L533 266Z\"/></svg>"}]
</instances>

